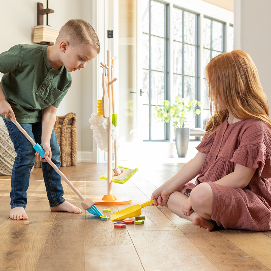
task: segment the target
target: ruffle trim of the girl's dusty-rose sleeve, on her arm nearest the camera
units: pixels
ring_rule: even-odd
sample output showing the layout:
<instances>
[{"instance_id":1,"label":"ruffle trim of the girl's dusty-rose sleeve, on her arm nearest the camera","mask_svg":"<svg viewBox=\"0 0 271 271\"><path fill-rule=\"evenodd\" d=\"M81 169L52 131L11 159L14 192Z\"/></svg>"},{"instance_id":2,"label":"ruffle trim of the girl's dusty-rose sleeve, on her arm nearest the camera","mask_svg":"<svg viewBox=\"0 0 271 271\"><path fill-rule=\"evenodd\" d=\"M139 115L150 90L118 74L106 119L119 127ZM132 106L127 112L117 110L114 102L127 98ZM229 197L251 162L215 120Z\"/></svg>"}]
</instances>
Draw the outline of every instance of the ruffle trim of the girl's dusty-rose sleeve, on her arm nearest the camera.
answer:
<instances>
[{"instance_id":1,"label":"ruffle trim of the girl's dusty-rose sleeve, on her arm nearest the camera","mask_svg":"<svg viewBox=\"0 0 271 271\"><path fill-rule=\"evenodd\" d=\"M266 146L262 142L239 146L234 152L231 162L248 168L258 168L261 178L271 177L271 156L266 152Z\"/></svg>"}]
</instances>

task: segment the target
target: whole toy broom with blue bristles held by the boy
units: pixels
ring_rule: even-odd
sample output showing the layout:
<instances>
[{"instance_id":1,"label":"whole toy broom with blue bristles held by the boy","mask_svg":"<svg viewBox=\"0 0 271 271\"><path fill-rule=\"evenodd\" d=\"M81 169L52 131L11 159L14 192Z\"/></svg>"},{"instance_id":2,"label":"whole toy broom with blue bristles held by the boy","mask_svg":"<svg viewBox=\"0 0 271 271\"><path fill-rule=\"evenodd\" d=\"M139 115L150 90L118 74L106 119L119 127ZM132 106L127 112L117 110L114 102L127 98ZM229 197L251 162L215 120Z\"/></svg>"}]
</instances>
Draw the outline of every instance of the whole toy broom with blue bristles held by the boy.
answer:
<instances>
[{"instance_id":1,"label":"whole toy broom with blue bristles held by the boy","mask_svg":"<svg viewBox=\"0 0 271 271\"><path fill-rule=\"evenodd\" d=\"M10 115L11 116L11 115ZM24 134L24 136L31 142L35 151L37 151L42 158L44 158L45 151L43 148L36 143L29 134L23 129L23 127L17 121L14 122L12 117L9 117L11 121L17 126L17 128ZM84 210L87 210L94 216L103 216L103 214L94 205L94 201L90 198L84 198L83 195L75 188L75 186L69 181L69 179L59 170L59 168L52 162L52 160L47 157L45 160L54 168L54 170L64 179L64 181L70 186L70 188L75 192L75 194L82 200L81 205Z\"/></svg>"}]
</instances>

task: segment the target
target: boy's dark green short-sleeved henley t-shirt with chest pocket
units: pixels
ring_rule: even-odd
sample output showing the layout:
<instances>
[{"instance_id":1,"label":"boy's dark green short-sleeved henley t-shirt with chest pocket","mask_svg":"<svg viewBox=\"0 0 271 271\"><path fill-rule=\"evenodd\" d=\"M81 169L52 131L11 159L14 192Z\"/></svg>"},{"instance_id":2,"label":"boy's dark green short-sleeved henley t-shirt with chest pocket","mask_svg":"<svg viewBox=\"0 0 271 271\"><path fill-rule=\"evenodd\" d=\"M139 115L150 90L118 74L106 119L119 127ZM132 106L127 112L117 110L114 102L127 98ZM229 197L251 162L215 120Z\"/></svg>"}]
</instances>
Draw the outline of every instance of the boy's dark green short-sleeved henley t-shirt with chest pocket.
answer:
<instances>
[{"instance_id":1,"label":"boy's dark green short-sleeved henley t-shirt with chest pocket","mask_svg":"<svg viewBox=\"0 0 271 271\"><path fill-rule=\"evenodd\" d=\"M19 123L41 121L43 109L58 107L71 86L64 65L61 70L51 67L47 46L19 44L0 54L2 89Z\"/></svg>"}]
</instances>

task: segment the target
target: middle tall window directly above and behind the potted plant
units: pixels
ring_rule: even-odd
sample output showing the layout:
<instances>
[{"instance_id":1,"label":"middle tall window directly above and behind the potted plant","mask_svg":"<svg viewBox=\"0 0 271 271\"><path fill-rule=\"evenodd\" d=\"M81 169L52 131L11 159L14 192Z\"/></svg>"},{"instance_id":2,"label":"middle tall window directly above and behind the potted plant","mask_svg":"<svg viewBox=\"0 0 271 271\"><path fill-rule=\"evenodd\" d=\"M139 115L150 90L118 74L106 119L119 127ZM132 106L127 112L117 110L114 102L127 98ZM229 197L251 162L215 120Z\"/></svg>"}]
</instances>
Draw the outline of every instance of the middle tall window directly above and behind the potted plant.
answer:
<instances>
[{"instance_id":1,"label":"middle tall window directly above and behind the potted plant","mask_svg":"<svg viewBox=\"0 0 271 271\"><path fill-rule=\"evenodd\" d=\"M176 96L197 99L197 23L196 14L173 8L173 101ZM187 126L195 128L194 115L188 115Z\"/></svg>"}]
</instances>

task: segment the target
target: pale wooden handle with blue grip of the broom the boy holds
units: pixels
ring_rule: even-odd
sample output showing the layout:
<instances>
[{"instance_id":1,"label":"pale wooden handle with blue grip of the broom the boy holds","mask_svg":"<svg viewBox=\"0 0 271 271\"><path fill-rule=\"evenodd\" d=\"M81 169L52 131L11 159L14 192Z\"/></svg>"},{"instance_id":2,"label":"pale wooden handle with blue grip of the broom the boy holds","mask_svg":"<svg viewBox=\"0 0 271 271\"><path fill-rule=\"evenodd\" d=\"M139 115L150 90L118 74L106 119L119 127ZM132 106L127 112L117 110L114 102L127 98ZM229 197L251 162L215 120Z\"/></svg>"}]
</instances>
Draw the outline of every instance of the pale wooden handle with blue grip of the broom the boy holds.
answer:
<instances>
[{"instance_id":1,"label":"pale wooden handle with blue grip of the broom the boy holds","mask_svg":"<svg viewBox=\"0 0 271 271\"><path fill-rule=\"evenodd\" d=\"M11 116L11 115L10 115ZM31 142L31 144L36 148L34 148L36 151L39 152L42 151L42 147L36 143L31 137L30 135L23 129L23 127L20 125L20 123L18 123L17 121L14 122L14 120L12 119L12 117L9 117L11 119L11 121L17 126L17 128L26 136L26 138ZM40 153L41 154L41 153ZM42 158L44 158L44 150L43 150L43 154L41 154ZM69 179L61 172L61 170L52 162L52 160L47 157L45 158L45 160L53 167L53 169L64 179L65 182L67 182L67 184L70 186L70 188L73 190L73 192L82 200L84 201L85 198L83 197L83 195L75 188L75 186L69 181Z\"/></svg>"}]
</instances>

